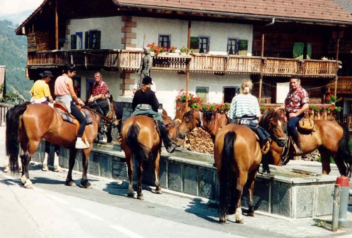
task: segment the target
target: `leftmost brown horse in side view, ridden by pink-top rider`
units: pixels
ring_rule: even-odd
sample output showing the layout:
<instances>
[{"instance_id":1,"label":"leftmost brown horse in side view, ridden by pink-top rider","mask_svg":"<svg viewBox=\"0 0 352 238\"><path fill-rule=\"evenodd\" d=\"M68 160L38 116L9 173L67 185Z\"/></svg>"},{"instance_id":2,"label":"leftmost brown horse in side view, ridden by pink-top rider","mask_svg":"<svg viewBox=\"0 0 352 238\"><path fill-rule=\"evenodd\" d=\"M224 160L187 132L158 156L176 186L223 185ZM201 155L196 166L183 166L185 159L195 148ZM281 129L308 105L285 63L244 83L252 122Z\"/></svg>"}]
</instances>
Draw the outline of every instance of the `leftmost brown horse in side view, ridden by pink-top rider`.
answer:
<instances>
[{"instance_id":1,"label":"leftmost brown horse in side view, ridden by pink-top rider","mask_svg":"<svg viewBox=\"0 0 352 238\"><path fill-rule=\"evenodd\" d=\"M102 119L116 124L115 107L109 100L97 100L90 105L89 114L93 123L87 125L84 130L86 141L90 147L82 151L82 179L83 188L91 188L87 179L87 168L89 155L93 148L93 142L98 134L98 125ZM97 112L100 108L104 115ZM6 151L10 157L11 170L18 171L19 143L21 146L22 176L21 182L25 188L34 188L29 179L29 163L42 139L55 145L70 149L68 174L65 185L75 186L72 180L72 169L75 162L77 150L74 148L76 141L76 125L62 120L60 113L46 104L21 104L14 107L6 130Z\"/></svg>"}]
</instances>

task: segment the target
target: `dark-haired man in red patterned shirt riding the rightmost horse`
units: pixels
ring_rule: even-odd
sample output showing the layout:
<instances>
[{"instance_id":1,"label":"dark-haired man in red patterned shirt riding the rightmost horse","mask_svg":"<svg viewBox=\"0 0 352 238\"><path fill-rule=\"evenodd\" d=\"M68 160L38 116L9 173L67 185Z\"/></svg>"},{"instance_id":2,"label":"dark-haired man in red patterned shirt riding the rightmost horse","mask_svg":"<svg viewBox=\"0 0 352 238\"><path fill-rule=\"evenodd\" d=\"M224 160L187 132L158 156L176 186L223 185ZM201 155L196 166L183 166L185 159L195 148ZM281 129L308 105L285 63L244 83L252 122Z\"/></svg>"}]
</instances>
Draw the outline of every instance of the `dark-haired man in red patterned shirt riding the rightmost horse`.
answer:
<instances>
[{"instance_id":1,"label":"dark-haired man in red patterned shirt riding the rightmost horse","mask_svg":"<svg viewBox=\"0 0 352 238\"><path fill-rule=\"evenodd\" d=\"M288 132L297 145L296 155L302 154L302 146L299 139L299 133L296 129L298 122L304 117L305 111L309 108L309 97L306 90L301 86L301 79L298 76L292 76L290 79L290 91L287 94L285 103L276 108L285 109L288 118Z\"/></svg>"}]
</instances>

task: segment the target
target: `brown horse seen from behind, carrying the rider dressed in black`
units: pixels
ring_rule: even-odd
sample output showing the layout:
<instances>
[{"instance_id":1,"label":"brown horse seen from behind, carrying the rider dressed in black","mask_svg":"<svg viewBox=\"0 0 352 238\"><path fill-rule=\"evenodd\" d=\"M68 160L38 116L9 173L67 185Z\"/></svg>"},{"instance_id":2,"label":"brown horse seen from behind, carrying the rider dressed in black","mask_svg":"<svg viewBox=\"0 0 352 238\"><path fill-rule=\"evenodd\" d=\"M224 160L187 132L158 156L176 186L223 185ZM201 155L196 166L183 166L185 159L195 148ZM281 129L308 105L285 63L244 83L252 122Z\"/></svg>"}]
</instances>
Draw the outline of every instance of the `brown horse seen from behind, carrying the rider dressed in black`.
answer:
<instances>
[{"instance_id":1,"label":"brown horse seen from behind, carrying the rider dressed in black","mask_svg":"<svg viewBox=\"0 0 352 238\"><path fill-rule=\"evenodd\" d=\"M161 138L152 118L146 115L129 117L122 126L121 149L125 152L125 161L128 168L129 186L127 195L133 197L133 155L137 163L137 199L144 199L142 173L143 167L148 161L154 161L155 193L161 194L159 180Z\"/></svg>"}]
</instances>

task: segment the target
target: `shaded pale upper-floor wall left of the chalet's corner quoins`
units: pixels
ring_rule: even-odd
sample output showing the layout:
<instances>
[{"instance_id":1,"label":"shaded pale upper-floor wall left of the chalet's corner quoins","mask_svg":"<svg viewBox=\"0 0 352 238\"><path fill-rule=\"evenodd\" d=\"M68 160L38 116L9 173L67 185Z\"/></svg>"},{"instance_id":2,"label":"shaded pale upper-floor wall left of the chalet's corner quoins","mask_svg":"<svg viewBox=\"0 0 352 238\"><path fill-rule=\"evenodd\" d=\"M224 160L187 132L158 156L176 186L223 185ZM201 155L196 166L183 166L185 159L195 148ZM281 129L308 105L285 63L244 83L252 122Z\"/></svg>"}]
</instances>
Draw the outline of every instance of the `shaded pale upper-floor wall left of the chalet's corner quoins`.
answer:
<instances>
[{"instance_id":1,"label":"shaded pale upper-floor wall left of the chalet's corner quoins","mask_svg":"<svg viewBox=\"0 0 352 238\"><path fill-rule=\"evenodd\" d=\"M101 49L122 49L121 28L123 27L121 16L107 18L87 18L87 19L72 19L68 29L70 35L75 35L76 32L83 33L83 49L84 49L84 32L90 30L101 31ZM68 41L70 37L67 35ZM66 48L70 49L71 44L68 42Z\"/></svg>"}]
</instances>

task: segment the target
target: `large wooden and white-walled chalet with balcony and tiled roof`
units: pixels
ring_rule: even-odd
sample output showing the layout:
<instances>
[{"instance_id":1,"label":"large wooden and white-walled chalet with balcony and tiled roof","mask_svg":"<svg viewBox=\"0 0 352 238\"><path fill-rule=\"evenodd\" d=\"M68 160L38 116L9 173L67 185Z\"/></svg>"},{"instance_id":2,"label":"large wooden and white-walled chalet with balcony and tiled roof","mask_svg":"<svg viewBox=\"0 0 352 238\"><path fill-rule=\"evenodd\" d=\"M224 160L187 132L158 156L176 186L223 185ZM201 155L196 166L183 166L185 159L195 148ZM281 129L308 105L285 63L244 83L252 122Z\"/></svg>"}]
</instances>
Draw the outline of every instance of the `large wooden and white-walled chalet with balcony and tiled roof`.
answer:
<instances>
[{"instance_id":1,"label":"large wooden and white-walled chalet with balcony and tiled roof","mask_svg":"<svg viewBox=\"0 0 352 238\"><path fill-rule=\"evenodd\" d=\"M115 99L131 100L142 47L177 47L177 54L154 55L152 68L157 97L173 115L182 88L220 103L248 78L253 94L274 103L278 84L299 75L323 103L329 90L337 93L339 42L351 24L332 0L44 0L16 33L27 35L30 79L73 63L83 98L100 70ZM193 53L179 53L182 47Z\"/></svg>"}]
</instances>

